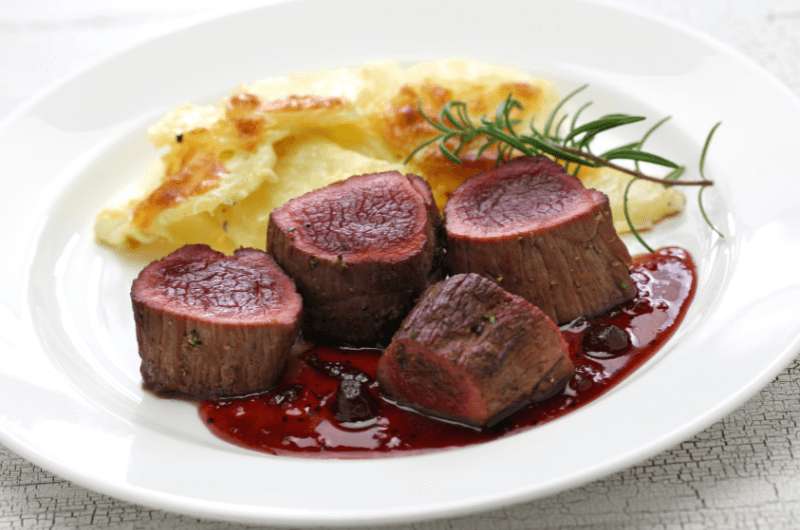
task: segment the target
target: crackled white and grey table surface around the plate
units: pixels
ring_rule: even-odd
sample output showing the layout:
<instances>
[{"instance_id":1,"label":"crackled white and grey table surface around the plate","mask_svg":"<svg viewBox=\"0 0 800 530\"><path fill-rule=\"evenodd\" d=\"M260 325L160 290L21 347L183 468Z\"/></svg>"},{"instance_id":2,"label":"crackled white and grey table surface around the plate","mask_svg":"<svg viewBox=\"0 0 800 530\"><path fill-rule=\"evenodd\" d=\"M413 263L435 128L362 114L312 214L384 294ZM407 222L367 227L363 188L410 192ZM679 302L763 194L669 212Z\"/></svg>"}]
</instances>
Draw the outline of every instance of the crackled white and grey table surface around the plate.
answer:
<instances>
[{"instance_id":1,"label":"crackled white and grey table surface around the plate","mask_svg":"<svg viewBox=\"0 0 800 530\"><path fill-rule=\"evenodd\" d=\"M725 41L800 93L800 0L609 0ZM4 0L0 117L41 87L219 10L214 0ZM252 2L228 2L236 7ZM800 361L742 408L638 466L547 499L402 528L800 527ZM0 527L240 528L151 510L75 486L0 446Z\"/></svg>"}]
</instances>

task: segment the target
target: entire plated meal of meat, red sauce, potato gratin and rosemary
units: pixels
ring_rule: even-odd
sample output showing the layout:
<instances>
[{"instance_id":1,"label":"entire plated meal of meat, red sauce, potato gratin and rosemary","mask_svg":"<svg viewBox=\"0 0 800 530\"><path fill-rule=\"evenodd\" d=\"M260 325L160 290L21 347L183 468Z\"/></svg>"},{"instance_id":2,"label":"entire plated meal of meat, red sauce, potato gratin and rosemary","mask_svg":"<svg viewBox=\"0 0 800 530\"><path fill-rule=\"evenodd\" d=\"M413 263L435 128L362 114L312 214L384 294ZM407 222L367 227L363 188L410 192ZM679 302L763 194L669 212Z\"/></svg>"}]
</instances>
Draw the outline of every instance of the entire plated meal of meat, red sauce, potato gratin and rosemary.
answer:
<instances>
[{"instance_id":1,"label":"entire plated meal of meat, red sauce, potato gratin and rosemary","mask_svg":"<svg viewBox=\"0 0 800 530\"><path fill-rule=\"evenodd\" d=\"M584 88L384 63L168 113L159 166L95 224L118 249L180 247L133 282L145 386L207 399L233 443L353 456L494 439L604 393L694 294L688 253L640 230L695 186L724 237L703 203L719 124L684 179L644 149L666 118L614 147L645 118L581 119Z\"/></svg>"}]
</instances>

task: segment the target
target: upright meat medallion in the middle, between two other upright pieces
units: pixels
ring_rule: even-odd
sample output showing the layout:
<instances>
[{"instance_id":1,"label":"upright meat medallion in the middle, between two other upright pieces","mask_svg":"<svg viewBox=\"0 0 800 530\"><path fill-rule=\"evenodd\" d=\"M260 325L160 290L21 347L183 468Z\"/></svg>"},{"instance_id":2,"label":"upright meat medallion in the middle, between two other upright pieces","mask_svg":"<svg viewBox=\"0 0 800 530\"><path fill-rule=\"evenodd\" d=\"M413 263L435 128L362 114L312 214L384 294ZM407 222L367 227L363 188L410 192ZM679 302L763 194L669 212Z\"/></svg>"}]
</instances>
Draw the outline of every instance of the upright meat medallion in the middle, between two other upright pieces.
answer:
<instances>
[{"instance_id":1,"label":"upright meat medallion in the middle, between two other upright pieces","mask_svg":"<svg viewBox=\"0 0 800 530\"><path fill-rule=\"evenodd\" d=\"M297 282L312 338L376 345L437 274L440 224L425 181L373 173L273 210L267 244Z\"/></svg>"}]
</instances>

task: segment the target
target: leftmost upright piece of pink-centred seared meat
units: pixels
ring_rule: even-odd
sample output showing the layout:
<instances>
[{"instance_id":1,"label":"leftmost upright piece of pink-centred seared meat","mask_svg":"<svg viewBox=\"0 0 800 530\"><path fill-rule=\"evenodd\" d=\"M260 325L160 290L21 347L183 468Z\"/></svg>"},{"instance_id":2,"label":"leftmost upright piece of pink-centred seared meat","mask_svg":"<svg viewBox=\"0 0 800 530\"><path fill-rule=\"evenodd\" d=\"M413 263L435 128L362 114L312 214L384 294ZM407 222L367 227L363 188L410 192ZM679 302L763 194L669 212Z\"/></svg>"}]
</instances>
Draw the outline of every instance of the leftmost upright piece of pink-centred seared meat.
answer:
<instances>
[{"instance_id":1,"label":"leftmost upright piece of pink-centred seared meat","mask_svg":"<svg viewBox=\"0 0 800 530\"><path fill-rule=\"evenodd\" d=\"M302 300L270 256L187 245L142 270L131 289L147 388L191 398L269 389L286 365Z\"/></svg>"}]
</instances>

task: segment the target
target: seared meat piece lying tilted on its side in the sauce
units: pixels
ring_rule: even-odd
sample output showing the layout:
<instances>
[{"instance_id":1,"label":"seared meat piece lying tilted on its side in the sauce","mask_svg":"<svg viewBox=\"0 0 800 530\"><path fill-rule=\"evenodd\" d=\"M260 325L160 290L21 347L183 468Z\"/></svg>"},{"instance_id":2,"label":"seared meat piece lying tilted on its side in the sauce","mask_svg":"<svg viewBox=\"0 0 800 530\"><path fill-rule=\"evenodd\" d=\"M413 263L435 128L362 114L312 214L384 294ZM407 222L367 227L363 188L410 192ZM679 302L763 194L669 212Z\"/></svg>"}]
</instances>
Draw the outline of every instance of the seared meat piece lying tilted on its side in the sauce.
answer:
<instances>
[{"instance_id":1,"label":"seared meat piece lying tilted on its side in the sauce","mask_svg":"<svg viewBox=\"0 0 800 530\"><path fill-rule=\"evenodd\" d=\"M381 388L401 404L475 427L553 396L572 372L553 321L477 274L430 287L378 364Z\"/></svg>"}]
</instances>

